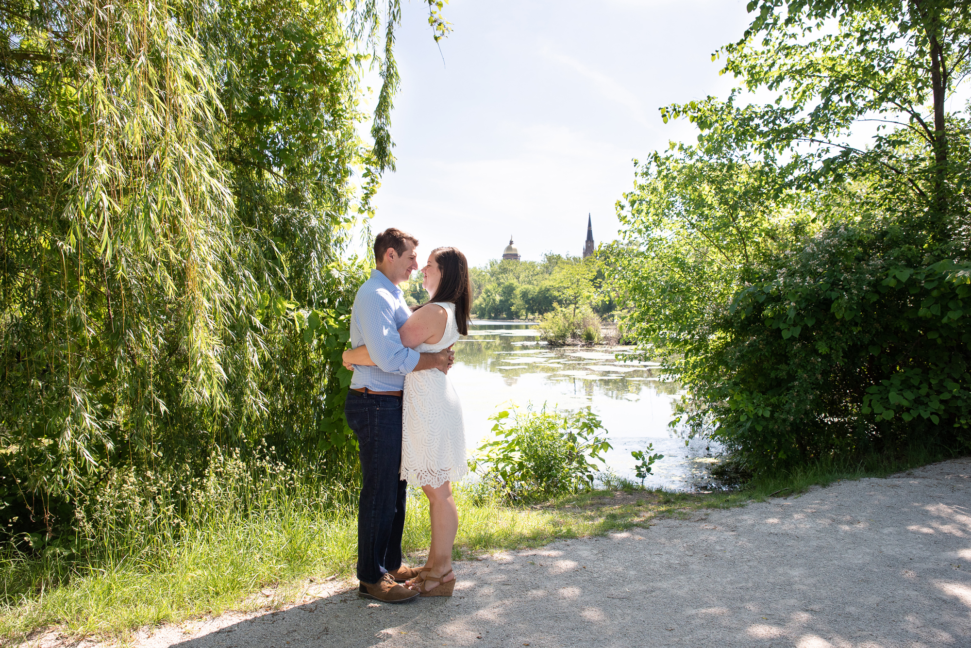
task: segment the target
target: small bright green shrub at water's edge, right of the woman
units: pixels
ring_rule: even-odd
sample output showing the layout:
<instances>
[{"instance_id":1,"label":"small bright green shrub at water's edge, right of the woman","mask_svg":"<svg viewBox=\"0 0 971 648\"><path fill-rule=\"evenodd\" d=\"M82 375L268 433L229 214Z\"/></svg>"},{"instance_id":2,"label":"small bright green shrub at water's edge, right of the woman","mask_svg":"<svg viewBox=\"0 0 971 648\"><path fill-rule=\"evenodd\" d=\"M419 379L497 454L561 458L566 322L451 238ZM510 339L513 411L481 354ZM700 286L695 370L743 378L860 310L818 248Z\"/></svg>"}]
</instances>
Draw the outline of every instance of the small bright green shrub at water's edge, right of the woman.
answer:
<instances>
[{"instance_id":1,"label":"small bright green shrub at water's edge, right of the woman","mask_svg":"<svg viewBox=\"0 0 971 648\"><path fill-rule=\"evenodd\" d=\"M560 413L517 407L490 417L496 440L478 449L482 484L507 501L536 502L577 493L593 483L601 453L609 450L606 430L591 411ZM604 436L600 435L603 431Z\"/></svg>"}]
</instances>

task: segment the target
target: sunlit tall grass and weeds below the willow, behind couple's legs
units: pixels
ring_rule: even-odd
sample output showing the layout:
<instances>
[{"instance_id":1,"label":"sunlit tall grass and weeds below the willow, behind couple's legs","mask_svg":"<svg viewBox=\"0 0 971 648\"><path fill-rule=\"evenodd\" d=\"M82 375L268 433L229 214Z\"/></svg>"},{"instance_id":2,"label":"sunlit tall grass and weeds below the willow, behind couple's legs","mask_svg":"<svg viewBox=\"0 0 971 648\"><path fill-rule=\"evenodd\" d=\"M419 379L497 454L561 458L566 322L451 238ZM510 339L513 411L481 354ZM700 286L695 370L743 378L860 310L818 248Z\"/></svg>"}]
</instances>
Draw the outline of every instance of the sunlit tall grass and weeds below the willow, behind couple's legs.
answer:
<instances>
[{"instance_id":1,"label":"sunlit tall grass and weeds below the willow, behind couple's legs","mask_svg":"<svg viewBox=\"0 0 971 648\"><path fill-rule=\"evenodd\" d=\"M111 481L98 501L87 502L80 527L90 546L83 556L0 556L0 635L56 626L77 635L123 636L145 625L255 606L247 596L267 585L353 572L352 480L300 475L272 461L245 465L231 456L218 457L205 478L187 486L172 475L159 475L148 492L145 475ZM456 558L593 530L555 511L483 501L461 485L455 497ZM429 537L427 500L410 490L405 551L426 548Z\"/></svg>"}]
</instances>

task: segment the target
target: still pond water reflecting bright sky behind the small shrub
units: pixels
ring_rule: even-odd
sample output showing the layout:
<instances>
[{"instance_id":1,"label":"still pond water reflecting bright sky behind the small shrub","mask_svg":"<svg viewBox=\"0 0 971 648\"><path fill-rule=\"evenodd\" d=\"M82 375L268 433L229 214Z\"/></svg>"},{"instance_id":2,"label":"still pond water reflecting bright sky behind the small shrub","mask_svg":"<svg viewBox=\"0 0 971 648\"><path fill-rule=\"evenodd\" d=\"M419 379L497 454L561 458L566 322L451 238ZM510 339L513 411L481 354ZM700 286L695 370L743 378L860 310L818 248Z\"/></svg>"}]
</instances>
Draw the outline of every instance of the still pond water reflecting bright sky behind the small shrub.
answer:
<instances>
[{"instance_id":1,"label":"still pond water reflecting bright sky behind the small shrub","mask_svg":"<svg viewBox=\"0 0 971 648\"><path fill-rule=\"evenodd\" d=\"M476 448L492 437L488 417L511 404L543 404L562 409L590 407L603 421L614 449L607 466L636 479L632 450L653 443L664 455L645 480L651 487L699 490L712 487L709 468L720 449L714 442L688 445L668 422L681 398L677 383L664 381L657 364L619 362L617 352L630 347L550 347L526 323L475 320L469 336L455 343L449 372L465 418L465 442Z\"/></svg>"}]
</instances>

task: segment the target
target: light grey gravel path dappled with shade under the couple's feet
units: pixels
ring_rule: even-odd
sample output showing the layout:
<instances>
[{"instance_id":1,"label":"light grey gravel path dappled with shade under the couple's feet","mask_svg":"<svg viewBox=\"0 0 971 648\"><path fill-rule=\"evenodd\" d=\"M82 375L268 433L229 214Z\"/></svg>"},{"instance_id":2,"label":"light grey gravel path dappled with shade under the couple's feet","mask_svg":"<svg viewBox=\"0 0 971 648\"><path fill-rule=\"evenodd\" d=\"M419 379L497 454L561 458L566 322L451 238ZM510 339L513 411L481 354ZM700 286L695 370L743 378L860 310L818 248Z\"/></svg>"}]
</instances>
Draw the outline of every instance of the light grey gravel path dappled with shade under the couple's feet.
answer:
<instances>
[{"instance_id":1,"label":"light grey gravel path dappled with shade under the couple's feet","mask_svg":"<svg viewBox=\"0 0 971 648\"><path fill-rule=\"evenodd\" d=\"M325 583L135 645L971 646L971 459L455 565L452 599Z\"/></svg>"}]
</instances>

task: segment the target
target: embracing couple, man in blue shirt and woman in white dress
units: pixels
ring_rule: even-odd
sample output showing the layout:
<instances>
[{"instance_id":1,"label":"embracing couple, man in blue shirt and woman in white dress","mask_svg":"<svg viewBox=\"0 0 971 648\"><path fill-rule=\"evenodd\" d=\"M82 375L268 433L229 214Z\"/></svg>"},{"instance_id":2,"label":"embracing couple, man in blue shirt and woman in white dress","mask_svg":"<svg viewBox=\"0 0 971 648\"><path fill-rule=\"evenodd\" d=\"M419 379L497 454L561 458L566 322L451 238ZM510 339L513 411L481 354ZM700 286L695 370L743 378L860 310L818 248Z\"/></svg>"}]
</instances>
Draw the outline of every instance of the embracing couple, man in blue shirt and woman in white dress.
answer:
<instances>
[{"instance_id":1,"label":"embracing couple, man in blue shirt and woman in white dress","mask_svg":"<svg viewBox=\"0 0 971 648\"><path fill-rule=\"evenodd\" d=\"M468 262L454 247L433 249L421 269L431 298L413 311L398 284L418 270L418 245L394 228L377 236L377 269L354 298L344 352L354 373L344 413L360 446L359 593L388 603L452 596L452 482L468 471L462 407L447 375L452 344L468 334ZM418 568L402 563L409 483L421 487L431 515L431 548Z\"/></svg>"}]
</instances>

